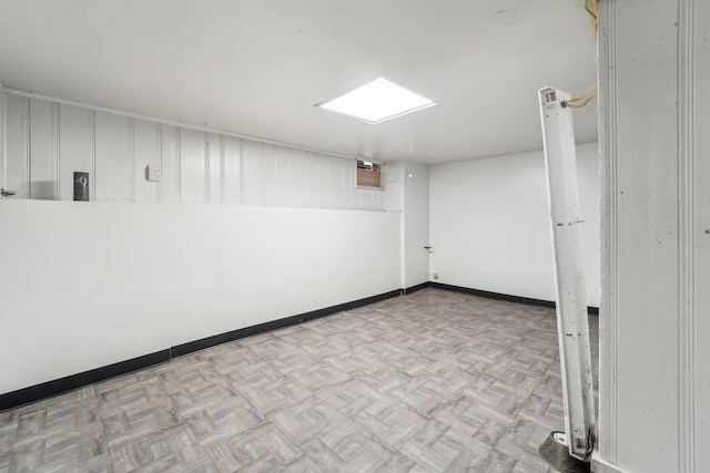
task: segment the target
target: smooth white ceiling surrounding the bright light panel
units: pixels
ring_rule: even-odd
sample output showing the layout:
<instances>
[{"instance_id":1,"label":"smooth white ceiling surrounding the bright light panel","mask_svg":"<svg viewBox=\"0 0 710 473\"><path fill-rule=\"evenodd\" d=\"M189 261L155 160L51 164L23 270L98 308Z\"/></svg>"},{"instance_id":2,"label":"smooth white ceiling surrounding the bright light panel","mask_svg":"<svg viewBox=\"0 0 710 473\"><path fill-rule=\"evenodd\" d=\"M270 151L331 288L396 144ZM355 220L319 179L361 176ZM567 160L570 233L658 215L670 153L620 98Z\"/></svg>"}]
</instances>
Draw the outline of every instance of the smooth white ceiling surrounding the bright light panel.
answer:
<instances>
[{"instance_id":1,"label":"smooth white ceiling surrounding the bright light panel","mask_svg":"<svg viewBox=\"0 0 710 473\"><path fill-rule=\"evenodd\" d=\"M540 150L536 91L585 91L595 44L579 0L0 0L7 88L383 162ZM314 106L378 76L437 105Z\"/></svg>"}]
</instances>

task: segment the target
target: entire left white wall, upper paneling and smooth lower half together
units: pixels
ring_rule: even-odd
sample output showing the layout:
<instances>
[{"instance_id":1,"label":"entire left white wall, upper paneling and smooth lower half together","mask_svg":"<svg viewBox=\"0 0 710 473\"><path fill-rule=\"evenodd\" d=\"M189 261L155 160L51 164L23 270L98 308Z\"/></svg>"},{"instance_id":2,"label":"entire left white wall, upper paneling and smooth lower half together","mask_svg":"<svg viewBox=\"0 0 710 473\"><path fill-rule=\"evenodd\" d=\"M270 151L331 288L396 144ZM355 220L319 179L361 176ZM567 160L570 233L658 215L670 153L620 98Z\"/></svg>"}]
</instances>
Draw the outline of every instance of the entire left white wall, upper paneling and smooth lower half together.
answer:
<instances>
[{"instance_id":1,"label":"entire left white wall, upper paneling and smooth lower half together","mask_svg":"<svg viewBox=\"0 0 710 473\"><path fill-rule=\"evenodd\" d=\"M400 216L359 212L384 193L354 160L2 99L0 392L400 287Z\"/></svg>"}]
</instances>

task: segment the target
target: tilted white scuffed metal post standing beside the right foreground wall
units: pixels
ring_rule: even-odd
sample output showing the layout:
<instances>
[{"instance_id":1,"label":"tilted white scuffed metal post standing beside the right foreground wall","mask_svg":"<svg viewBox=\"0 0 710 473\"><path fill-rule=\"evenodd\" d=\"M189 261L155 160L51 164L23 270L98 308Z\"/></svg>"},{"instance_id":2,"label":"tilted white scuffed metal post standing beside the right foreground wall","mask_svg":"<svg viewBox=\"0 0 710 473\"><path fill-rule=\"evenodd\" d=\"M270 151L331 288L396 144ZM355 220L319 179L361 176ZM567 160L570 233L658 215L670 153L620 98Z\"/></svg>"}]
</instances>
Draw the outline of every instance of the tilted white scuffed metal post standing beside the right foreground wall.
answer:
<instances>
[{"instance_id":1,"label":"tilted white scuffed metal post standing beside the right foreground wall","mask_svg":"<svg viewBox=\"0 0 710 473\"><path fill-rule=\"evenodd\" d=\"M589 351L587 288L581 260L577 157L569 94L539 91L545 164L557 279L557 331L569 454L588 460L594 446L595 407Z\"/></svg>"}]
</instances>

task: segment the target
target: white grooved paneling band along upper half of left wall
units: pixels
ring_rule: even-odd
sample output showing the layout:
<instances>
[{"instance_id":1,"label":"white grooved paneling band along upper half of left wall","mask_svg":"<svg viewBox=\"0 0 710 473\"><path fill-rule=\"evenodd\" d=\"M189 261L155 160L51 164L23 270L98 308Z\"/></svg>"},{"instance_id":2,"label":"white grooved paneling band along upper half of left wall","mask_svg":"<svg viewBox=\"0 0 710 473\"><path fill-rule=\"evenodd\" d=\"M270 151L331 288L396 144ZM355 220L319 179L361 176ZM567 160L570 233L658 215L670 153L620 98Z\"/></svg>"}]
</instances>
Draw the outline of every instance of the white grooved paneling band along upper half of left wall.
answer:
<instances>
[{"instance_id":1,"label":"white grooved paneling band along upper half of left wall","mask_svg":"<svg viewBox=\"0 0 710 473\"><path fill-rule=\"evenodd\" d=\"M89 173L91 200L245 204L382 210L356 187L355 160L3 92L7 185L14 198L71 200ZM161 169L150 181L148 166Z\"/></svg>"}]
</instances>

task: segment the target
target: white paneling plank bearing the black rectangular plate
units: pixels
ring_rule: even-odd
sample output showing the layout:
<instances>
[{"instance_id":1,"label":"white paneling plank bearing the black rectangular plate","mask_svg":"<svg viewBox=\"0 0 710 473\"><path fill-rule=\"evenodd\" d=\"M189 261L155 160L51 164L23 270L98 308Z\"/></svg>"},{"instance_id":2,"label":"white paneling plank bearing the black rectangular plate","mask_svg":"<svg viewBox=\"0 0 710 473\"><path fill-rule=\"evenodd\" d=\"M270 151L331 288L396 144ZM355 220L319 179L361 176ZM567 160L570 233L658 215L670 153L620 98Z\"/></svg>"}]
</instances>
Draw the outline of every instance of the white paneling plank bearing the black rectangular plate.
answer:
<instances>
[{"instance_id":1,"label":"white paneling plank bearing the black rectangular plate","mask_svg":"<svg viewBox=\"0 0 710 473\"><path fill-rule=\"evenodd\" d=\"M62 200L74 198L74 172L89 173L90 188L95 184L93 173L93 112L71 105L59 106L59 169ZM120 178L120 176L119 176ZM90 198L97 196L92 192Z\"/></svg>"}]
</instances>

